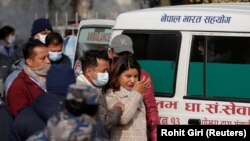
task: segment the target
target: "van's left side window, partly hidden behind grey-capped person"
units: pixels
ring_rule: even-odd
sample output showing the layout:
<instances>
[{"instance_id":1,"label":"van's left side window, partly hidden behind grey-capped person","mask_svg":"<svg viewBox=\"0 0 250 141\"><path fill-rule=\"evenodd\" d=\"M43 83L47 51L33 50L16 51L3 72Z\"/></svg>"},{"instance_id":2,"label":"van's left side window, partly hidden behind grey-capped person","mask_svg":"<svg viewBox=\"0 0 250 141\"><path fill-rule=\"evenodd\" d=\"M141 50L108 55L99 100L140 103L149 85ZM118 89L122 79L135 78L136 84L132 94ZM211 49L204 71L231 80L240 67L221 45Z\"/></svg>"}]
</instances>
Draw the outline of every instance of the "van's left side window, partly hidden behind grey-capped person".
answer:
<instances>
[{"instance_id":1,"label":"van's left side window, partly hidden behind grey-capped person","mask_svg":"<svg viewBox=\"0 0 250 141\"><path fill-rule=\"evenodd\" d=\"M179 32L124 31L130 36L136 58L152 78L157 96L172 96L175 89Z\"/></svg>"}]
</instances>

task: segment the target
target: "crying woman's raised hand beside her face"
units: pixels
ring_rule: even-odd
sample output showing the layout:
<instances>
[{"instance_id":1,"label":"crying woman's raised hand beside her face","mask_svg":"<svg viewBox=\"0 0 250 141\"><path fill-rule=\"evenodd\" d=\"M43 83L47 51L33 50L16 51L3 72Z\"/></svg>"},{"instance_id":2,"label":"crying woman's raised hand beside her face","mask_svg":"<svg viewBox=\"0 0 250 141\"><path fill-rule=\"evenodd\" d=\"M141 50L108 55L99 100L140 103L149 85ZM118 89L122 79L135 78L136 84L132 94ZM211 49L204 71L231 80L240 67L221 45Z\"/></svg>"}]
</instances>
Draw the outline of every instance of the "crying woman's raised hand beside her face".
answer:
<instances>
[{"instance_id":1,"label":"crying woman's raised hand beside her face","mask_svg":"<svg viewBox=\"0 0 250 141\"><path fill-rule=\"evenodd\" d=\"M151 87L150 81L149 78L142 77L140 81L135 83L134 90L142 94L146 89Z\"/></svg>"}]
</instances>

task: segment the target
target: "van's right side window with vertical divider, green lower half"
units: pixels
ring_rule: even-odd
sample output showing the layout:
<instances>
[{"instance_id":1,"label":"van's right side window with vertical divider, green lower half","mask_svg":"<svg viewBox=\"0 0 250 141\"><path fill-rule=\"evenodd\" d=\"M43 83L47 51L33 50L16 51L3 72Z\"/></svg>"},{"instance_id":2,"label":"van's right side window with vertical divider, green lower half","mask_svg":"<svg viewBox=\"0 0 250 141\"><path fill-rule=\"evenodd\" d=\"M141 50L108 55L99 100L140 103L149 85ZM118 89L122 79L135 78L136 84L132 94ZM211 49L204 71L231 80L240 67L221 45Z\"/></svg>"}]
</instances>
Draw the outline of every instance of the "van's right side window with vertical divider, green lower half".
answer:
<instances>
[{"instance_id":1,"label":"van's right side window with vertical divider, green lower half","mask_svg":"<svg viewBox=\"0 0 250 141\"><path fill-rule=\"evenodd\" d=\"M188 95L250 99L250 37L193 36Z\"/></svg>"}]
</instances>

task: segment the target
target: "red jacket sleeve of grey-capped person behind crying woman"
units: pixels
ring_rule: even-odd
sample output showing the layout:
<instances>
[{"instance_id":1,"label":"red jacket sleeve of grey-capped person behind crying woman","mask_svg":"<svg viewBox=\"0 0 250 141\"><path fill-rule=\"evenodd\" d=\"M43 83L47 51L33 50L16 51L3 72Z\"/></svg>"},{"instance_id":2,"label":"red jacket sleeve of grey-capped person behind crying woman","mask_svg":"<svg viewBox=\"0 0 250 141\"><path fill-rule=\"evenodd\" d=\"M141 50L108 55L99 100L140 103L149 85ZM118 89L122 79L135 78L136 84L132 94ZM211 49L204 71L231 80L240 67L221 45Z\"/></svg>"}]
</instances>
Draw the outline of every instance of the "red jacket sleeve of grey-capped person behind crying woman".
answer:
<instances>
[{"instance_id":1,"label":"red jacket sleeve of grey-capped person behind crying woman","mask_svg":"<svg viewBox=\"0 0 250 141\"><path fill-rule=\"evenodd\" d=\"M142 70L141 72L141 78L143 76L146 77L146 79L150 78L150 75L145 70ZM154 95L154 86L151 81L151 87L145 91L143 98L146 107L147 129L151 141L157 141L157 125L160 124L158 109Z\"/></svg>"}]
</instances>

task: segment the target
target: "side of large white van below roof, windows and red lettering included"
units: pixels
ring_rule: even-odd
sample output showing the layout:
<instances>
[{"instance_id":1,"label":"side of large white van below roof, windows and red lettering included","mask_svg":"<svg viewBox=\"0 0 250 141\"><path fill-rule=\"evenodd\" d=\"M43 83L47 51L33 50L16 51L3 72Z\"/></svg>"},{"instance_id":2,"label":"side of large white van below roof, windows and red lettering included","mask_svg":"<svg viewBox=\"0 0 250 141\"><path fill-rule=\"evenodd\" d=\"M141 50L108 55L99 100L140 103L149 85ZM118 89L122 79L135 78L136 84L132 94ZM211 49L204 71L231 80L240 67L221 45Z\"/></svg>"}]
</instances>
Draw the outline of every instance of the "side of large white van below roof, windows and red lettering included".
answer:
<instances>
[{"instance_id":1,"label":"side of large white van below roof, windows and red lettering included","mask_svg":"<svg viewBox=\"0 0 250 141\"><path fill-rule=\"evenodd\" d=\"M161 124L250 124L250 34L136 31Z\"/></svg>"}]
</instances>

